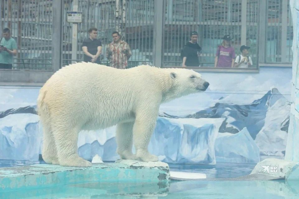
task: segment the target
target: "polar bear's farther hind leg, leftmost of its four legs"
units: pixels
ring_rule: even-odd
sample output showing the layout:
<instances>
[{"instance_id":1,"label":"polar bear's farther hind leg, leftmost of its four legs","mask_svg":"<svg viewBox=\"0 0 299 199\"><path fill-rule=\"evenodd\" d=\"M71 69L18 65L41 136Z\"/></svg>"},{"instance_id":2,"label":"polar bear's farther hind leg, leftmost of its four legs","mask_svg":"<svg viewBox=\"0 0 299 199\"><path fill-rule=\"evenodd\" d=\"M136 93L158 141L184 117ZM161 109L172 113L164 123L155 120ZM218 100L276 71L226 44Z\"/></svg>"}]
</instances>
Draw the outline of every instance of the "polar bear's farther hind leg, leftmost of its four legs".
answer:
<instances>
[{"instance_id":1,"label":"polar bear's farther hind leg, leftmost of its four legs","mask_svg":"<svg viewBox=\"0 0 299 199\"><path fill-rule=\"evenodd\" d=\"M50 125L43 125L42 158L47 164L59 164L55 140Z\"/></svg>"}]
</instances>

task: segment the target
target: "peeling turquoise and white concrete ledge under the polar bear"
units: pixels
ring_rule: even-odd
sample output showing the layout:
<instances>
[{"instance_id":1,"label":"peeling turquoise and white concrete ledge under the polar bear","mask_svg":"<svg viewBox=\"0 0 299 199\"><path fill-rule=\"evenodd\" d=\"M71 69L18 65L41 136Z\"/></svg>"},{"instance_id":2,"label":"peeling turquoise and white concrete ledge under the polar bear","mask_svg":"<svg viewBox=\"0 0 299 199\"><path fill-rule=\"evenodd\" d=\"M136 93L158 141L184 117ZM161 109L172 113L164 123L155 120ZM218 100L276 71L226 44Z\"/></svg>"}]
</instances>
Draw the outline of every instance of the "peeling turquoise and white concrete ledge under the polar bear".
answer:
<instances>
[{"instance_id":1,"label":"peeling turquoise and white concrete ledge under the polar bear","mask_svg":"<svg viewBox=\"0 0 299 199\"><path fill-rule=\"evenodd\" d=\"M92 167L51 164L0 168L0 192L90 182L168 182L169 166L162 162L117 160L93 163Z\"/></svg>"}]
</instances>

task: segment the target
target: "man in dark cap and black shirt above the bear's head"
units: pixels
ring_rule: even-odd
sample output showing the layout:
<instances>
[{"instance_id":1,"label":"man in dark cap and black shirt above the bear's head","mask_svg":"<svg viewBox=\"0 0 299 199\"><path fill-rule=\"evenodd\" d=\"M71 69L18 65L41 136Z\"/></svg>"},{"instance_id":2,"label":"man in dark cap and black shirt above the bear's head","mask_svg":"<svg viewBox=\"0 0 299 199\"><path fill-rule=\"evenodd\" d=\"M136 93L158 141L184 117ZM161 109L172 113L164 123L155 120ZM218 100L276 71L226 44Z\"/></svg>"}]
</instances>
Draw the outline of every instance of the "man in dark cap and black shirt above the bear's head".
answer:
<instances>
[{"instance_id":1,"label":"man in dark cap and black shirt above the bear's head","mask_svg":"<svg viewBox=\"0 0 299 199\"><path fill-rule=\"evenodd\" d=\"M193 31L190 36L190 41L182 48L181 58L182 67L192 66L199 67L199 54L202 48L197 44L198 33Z\"/></svg>"}]
</instances>

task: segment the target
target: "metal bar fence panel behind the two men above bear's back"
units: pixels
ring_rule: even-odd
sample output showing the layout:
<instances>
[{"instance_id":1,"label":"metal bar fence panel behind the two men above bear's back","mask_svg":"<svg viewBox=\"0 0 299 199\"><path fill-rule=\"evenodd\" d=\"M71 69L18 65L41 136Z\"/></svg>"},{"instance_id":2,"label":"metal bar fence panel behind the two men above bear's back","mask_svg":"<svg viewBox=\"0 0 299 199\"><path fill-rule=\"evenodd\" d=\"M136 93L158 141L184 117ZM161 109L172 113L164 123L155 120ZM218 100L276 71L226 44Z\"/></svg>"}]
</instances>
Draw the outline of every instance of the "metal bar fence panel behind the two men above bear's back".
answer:
<instances>
[{"instance_id":1,"label":"metal bar fence panel behind the two men above bear's back","mask_svg":"<svg viewBox=\"0 0 299 199\"><path fill-rule=\"evenodd\" d=\"M72 28L73 24L66 22L66 11L74 11L74 6L79 7L84 16L75 33L77 38L72 37L76 31ZM130 45L132 56L129 67L153 64L153 10L154 0L64 0L63 65L83 60L82 42L89 37L88 29L91 27L98 29L98 39L102 42L102 64L108 64L105 50L112 42L113 31L119 31ZM77 43L77 49L72 54L74 43Z\"/></svg>"}]
</instances>

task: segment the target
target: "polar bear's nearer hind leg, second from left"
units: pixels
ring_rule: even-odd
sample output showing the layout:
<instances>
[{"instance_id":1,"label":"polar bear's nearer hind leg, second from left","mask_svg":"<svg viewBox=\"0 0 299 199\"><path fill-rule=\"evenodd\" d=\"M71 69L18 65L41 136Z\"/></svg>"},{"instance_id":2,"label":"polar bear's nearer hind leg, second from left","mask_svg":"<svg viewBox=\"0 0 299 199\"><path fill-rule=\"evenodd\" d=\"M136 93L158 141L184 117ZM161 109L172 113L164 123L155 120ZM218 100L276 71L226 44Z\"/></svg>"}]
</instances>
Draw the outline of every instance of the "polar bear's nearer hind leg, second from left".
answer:
<instances>
[{"instance_id":1,"label":"polar bear's nearer hind leg, second from left","mask_svg":"<svg viewBox=\"0 0 299 199\"><path fill-rule=\"evenodd\" d=\"M92 163L81 158L78 154L79 128L62 126L55 128L54 139L57 147L58 160L61 166L91 167Z\"/></svg>"}]
</instances>

